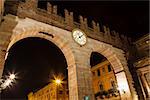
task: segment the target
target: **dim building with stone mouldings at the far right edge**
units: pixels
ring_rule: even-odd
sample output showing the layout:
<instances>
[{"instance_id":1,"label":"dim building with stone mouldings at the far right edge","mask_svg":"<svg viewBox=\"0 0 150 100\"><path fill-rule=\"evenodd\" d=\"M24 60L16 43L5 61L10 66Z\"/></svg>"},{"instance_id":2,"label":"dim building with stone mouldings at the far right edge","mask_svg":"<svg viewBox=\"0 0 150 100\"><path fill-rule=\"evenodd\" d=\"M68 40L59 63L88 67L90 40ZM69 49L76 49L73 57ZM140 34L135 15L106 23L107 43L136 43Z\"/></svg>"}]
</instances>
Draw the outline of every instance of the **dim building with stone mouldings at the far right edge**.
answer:
<instances>
[{"instance_id":1,"label":"dim building with stone mouldings at the far right edge","mask_svg":"<svg viewBox=\"0 0 150 100\"><path fill-rule=\"evenodd\" d=\"M145 99L150 99L150 34L134 42L138 58L134 63Z\"/></svg>"}]
</instances>

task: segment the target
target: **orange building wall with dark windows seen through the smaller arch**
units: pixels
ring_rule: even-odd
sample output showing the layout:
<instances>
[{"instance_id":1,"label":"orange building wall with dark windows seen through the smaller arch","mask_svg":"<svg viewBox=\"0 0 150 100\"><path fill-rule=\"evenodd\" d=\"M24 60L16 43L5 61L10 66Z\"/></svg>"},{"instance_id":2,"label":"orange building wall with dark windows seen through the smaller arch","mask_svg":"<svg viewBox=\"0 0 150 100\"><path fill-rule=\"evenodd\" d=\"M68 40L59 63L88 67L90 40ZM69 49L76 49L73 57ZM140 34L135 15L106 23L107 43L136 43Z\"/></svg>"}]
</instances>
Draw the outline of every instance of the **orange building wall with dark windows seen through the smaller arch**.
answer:
<instances>
[{"instance_id":1,"label":"orange building wall with dark windows seen through the smaller arch","mask_svg":"<svg viewBox=\"0 0 150 100\"><path fill-rule=\"evenodd\" d=\"M93 74L92 79L94 94L102 93L103 91L108 93L110 89L118 89L115 74L107 60L93 66L91 70ZM116 97L119 98L119 96ZM111 96L110 98L116 99L114 96Z\"/></svg>"}]
</instances>

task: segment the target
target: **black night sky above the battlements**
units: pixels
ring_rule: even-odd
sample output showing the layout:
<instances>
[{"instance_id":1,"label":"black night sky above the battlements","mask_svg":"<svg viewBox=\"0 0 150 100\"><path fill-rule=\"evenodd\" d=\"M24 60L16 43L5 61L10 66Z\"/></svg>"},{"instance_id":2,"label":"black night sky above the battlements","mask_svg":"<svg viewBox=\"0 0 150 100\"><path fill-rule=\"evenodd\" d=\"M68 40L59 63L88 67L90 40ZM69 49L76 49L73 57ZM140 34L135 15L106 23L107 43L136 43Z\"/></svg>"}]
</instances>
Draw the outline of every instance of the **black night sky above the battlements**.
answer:
<instances>
[{"instance_id":1,"label":"black night sky above the battlements","mask_svg":"<svg viewBox=\"0 0 150 100\"><path fill-rule=\"evenodd\" d=\"M39 0L39 7L45 8L46 3ZM50 0L47 0L50 1ZM78 15L92 19L100 25L109 26L121 34L137 39L149 33L149 2L148 1L53 1L58 5L59 14L62 9L74 12L75 20ZM90 24L89 24L90 25Z\"/></svg>"}]
</instances>

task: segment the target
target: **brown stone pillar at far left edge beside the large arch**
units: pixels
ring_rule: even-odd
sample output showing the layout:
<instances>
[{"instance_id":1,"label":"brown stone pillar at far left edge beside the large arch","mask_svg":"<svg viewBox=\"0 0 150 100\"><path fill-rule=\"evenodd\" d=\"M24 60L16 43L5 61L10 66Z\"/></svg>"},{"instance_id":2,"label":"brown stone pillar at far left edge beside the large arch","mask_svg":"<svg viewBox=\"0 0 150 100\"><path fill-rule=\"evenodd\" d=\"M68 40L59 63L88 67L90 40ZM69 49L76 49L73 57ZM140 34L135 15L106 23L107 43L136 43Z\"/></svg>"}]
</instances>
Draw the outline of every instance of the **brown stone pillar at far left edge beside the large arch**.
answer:
<instances>
[{"instance_id":1,"label":"brown stone pillar at far left edge beside the large arch","mask_svg":"<svg viewBox=\"0 0 150 100\"><path fill-rule=\"evenodd\" d=\"M0 26L0 78L3 73L7 46L10 42L12 31L17 24L15 18L13 15L5 16Z\"/></svg>"}]
</instances>

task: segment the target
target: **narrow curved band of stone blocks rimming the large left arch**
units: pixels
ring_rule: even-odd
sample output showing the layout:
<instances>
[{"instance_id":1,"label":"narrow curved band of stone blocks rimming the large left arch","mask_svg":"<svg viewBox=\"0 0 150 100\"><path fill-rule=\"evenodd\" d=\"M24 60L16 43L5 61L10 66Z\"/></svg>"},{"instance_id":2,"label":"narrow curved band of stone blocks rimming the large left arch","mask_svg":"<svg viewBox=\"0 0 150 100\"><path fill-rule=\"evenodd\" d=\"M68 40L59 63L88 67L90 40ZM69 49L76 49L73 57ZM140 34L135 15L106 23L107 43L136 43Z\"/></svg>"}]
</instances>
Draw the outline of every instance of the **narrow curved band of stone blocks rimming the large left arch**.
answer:
<instances>
[{"instance_id":1,"label":"narrow curved band of stone blocks rimming the large left arch","mask_svg":"<svg viewBox=\"0 0 150 100\"><path fill-rule=\"evenodd\" d=\"M46 40L51 41L52 43L54 43L56 46L58 46L60 48L60 50L63 52L63 54L66 58L68 69L70 69L71 66L75 66L75 62L74 62L75 60L74 60L74 56L72 54L72 50L68 47L68 44L65 41L63 41L63 39L61 39L59 36L58 37L55 36L52 38L52 37L46 36L44 34L39 34L39 32L44 32L44 31L34 30L34 31L27 31L25 33L15 35L8 45L6 56L9 53L8 52L9 49L18 41L25 39L25 38L29 38L29 37L39 37L39 38L44 38ZM7 57L5 57L5 58L7 58ZM71 70L73 70L73 69L71 69ZM71 80L70 72L72 72L72 71L68 71L69 84L73 84L73 83L70 83L70 80ZM71 81L71 82L74 82L74 81ZM72 86L70 87L70 85L69 85L69 91L70 90L72 90ZM70 94L72 94L72 93L70 92ZM71 95L69 95L69 96L71 96ZM73 94L73 96L74 96L74 94Z\"/></svg>"}]
</instances>

